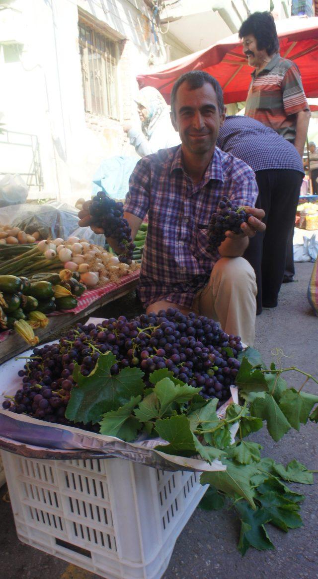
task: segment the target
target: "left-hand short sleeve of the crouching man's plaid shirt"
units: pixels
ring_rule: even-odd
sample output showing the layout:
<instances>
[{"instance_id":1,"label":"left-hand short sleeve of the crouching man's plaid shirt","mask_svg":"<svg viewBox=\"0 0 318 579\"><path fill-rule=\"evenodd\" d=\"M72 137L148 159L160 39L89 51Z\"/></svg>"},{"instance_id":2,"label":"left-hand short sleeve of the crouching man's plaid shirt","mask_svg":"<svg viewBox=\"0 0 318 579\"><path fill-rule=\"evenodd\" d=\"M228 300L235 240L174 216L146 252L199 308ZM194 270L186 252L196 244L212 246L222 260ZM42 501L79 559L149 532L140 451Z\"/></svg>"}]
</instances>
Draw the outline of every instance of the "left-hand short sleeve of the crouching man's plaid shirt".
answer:
<instances>
[{"instance_id":1,"label":"left-hand short sleeve of the crouching man's plaid shirt","mask_svg":"<svg viewBox=\"0 0 318 579\"><path fill-rule=\"evenodd\" d=\"M151 170L147 157L140 159L129 178L124 211L144 219L149 210Z\"/></svg>"}]
</instances>

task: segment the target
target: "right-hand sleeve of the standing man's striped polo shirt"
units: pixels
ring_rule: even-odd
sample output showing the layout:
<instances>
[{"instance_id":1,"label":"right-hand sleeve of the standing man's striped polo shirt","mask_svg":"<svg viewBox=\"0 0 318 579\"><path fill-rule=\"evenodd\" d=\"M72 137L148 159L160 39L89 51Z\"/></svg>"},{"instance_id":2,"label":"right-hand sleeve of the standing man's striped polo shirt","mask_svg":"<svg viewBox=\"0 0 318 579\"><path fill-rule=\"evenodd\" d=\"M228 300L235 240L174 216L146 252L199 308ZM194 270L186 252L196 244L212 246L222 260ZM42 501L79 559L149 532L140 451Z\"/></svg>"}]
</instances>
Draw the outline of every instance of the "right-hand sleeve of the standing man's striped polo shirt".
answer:
<instances>
[{"instance_id":1,"label":"right-hand sleeve of the standing man's striped polo shirt","mask_svg":"<svg viewBox=\"0 0 318 579\"><path fill-rule=\"evenodd\" d=\"M308 102L298 69L293 65L286 71L281 83L284 111L286 115L295 115L300 111L309 111Z\"/></svg>"}]
</instances>

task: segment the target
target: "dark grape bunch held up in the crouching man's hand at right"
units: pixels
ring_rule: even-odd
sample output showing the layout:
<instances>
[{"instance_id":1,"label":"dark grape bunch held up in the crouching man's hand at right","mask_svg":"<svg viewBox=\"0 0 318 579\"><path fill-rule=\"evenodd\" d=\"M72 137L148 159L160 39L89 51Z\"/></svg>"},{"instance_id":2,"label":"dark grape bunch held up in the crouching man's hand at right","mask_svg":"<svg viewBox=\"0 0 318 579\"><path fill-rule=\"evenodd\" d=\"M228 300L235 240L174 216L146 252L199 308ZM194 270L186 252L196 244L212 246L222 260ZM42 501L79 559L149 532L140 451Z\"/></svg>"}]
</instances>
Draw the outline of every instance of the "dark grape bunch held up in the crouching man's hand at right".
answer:
<instances>
[{"instance_id":1,"label":"dark grape bunch held up in the crouching man's hand at right","mask_svg":"<svg viewBox=\"0 0 318 579\"><path fill-rule=\"evenodd\" d=\"M222 241L225 232L240 233L242 223L247 223L249 215L243 207L232 205L227 197L222 197L218 204L218 212L213 213L208 228L208 251L214 253Z\"/></svg>"}]
</instances>

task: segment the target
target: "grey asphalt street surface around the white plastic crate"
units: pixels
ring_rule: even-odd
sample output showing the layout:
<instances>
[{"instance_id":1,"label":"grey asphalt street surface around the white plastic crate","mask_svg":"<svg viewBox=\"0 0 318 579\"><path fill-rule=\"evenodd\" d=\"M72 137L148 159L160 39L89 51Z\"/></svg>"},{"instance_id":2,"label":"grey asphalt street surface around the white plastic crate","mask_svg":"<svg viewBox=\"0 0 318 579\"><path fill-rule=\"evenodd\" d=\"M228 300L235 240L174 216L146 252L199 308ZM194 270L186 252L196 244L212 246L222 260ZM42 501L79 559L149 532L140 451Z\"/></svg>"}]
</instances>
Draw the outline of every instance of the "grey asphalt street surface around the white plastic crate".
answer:
<instances>
[{"instance_id":1,"label":"grey asphalt street surface around the white plastic crate","mask_svg":"<svg viewBox=\"0 0 318 579\"><path fill-rule=\"evenodd\" d=\"M276 349L283 351L283 367L297 367L318 378L318 318L308 304L306 293L313 263L297 263L294 283L281 288L279 305L263 310L256 318L255 347L266 363L276 360ZM140 312L133 294L95 312L110 317ZM302 378L288 373L291 386ZM317 393L308 382L306 391ZM285 465L296 458L313 470L318 469L318 425L302 426L280 442L273 442L265 429L253 436L264 447L263 455ZM302 504L303 527L284 533L268 526L276 549L249 549L242 557L237 551L240 525L232 510L202 511L197 508L183 529L162 579L299 579L318 578L318 475L314 485L291 485L306 495ZM69 565L27 545L16 537L15 524L6 487L0 492L0 577L3 579L97 579L97 576ZM127 578L131 579L131 578Z\"/></svg>"}]
</instances>

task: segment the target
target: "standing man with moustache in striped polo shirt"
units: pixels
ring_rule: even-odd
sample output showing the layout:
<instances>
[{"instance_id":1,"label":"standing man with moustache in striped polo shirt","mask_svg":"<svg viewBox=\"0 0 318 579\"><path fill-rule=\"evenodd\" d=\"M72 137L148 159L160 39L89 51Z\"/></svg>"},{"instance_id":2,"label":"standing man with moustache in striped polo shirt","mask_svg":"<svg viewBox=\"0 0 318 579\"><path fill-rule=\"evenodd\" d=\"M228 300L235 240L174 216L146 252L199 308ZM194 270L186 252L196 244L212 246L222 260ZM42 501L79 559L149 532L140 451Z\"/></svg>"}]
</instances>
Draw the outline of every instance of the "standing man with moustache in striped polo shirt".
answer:
<instances>
[{"instance_id":1,"label":"standing man with moustache in striped polo shirt","mask_svg":"<svg viewBox=\"0 0 318 579\"><path fill-rule=\"evenodd\" d=\"M239 30L248 64L255 67L248 90L245 115L290 141L303 156L310 111L303 91L299 69L279 54L279 39L270 12L254 12ZM291 228L287 241L284 281L295 274Z\"/></svg>"}]
</instances>

